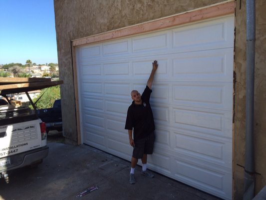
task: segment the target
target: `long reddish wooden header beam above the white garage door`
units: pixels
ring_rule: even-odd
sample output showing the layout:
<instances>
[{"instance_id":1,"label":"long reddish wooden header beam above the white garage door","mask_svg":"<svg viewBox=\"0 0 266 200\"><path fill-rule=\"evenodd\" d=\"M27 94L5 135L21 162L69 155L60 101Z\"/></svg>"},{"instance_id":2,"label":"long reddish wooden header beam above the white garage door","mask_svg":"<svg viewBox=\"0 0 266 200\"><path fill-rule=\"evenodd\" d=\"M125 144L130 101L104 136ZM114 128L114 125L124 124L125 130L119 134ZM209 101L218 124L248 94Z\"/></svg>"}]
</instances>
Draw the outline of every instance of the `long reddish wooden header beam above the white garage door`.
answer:
<instances>
[{"instance_id":1,"label":"long reddish wooden header beam above the white garage door","mask_svg":"<svg viewBox=\"0 0 266 200\"><path fill-rule=\"evenodd\" d=\"M144 32L159 30L163 28L168 28L172 26L182 25L186 23L192 23L200 20L205 20L209 18L224 16L228 14L235 13L235 1L230 1L221 4L211 5L209 7L204 7L201 9L196 9L177 15L172 15L169 17L156 19L128 27L124 27L117 30L112 30L96 35L91 35L88 37L76 39L72 41L73 46L90 44L100 41L105 41L109 39L116 39L120 37L130 36L134 34L140 34Z\"/></svg>"}]
</instances>

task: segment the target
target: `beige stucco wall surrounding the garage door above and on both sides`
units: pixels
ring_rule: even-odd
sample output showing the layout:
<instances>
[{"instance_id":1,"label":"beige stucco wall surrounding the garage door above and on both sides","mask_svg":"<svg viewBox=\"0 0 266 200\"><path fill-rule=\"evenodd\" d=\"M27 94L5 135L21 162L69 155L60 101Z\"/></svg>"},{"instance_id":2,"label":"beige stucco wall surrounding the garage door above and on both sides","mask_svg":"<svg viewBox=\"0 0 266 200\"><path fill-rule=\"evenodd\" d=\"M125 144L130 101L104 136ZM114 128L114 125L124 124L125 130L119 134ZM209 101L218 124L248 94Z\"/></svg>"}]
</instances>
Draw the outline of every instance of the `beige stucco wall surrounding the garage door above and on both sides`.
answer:
<instances>
[{"instance_id":1,"label":"beige stucco wall surrounding the garage door above and on both sides","mask_svg":"<svg viewBox=\"0 0 266 200\"><path fill-rule=\"evenodd\" d=\"M136 23L169 16L223 0L54 0L61 86L63 134L77 142L71 40ZM256 192L266 184L266 10L265 0L256 0L255 160ZM242 199L245 165L246 98L246 0L236 2L235 118L233 193Z\"/></svg>"}]
</instances>

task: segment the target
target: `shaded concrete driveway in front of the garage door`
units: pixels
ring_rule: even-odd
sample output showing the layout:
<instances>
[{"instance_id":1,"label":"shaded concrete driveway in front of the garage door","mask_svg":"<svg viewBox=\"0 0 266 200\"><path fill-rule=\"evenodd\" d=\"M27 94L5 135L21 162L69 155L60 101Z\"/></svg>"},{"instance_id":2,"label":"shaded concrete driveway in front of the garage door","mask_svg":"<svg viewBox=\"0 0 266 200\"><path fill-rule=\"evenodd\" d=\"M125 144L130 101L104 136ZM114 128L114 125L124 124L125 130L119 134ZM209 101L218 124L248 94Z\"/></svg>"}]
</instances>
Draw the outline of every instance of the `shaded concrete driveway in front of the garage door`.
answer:
<instances>
[{"instance_id":1,"label":"shaded concrete driveway in front of the garage door","mask_svg":"<svg viewBox=\"0 0 266 200\"><path fill-rule=\"evenodd\" d=\"M48 146L49 155L38 167L13 171L9 184L0 179L0 199L220 199L156 172L154 178L144 177L140 166L131 185L129 161L87 145ZM94 185L99 188L76 197Z\"/></svg>"}]
</instances>

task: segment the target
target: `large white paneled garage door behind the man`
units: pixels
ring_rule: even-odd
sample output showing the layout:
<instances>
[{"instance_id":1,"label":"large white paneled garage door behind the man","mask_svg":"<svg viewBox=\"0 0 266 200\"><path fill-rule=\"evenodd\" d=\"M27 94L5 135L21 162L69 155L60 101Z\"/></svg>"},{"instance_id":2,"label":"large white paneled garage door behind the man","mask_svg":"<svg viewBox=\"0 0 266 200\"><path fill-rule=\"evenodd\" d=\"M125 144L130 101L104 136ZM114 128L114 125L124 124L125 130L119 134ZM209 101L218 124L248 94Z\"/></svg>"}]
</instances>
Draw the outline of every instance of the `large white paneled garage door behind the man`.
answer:
<instances>
[{"instance_id":1,"label":"large white paneled garage door behind the man","mask_svg":"<svg viewBox=\"0 0 266 200\"><path fill-rule=\"evenodd\" d=\"M82 142L130 160L130 92L157 59L149 167L231 199L233 54L234 16L77 47Z\"/></svg>"}]
</instances>

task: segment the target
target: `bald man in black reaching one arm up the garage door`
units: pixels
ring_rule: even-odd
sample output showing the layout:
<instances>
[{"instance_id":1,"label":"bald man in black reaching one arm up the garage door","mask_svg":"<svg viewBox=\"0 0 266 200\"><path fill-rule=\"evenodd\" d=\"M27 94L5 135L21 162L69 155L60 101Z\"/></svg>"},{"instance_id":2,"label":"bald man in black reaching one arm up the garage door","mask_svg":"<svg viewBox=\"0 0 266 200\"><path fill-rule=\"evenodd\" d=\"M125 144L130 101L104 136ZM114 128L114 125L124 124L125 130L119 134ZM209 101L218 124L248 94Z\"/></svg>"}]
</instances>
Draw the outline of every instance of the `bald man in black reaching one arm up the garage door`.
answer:
<instances>
[{"instance_id":1,"label":"bald man in black reaching one arm up the garage door","mask_svg":"<svg viewBox=\"0 0 266 200\"><path fill-rule=\"evenodd\" d=\"M150 106L151 87L155 71L158 68L157 60L152 63L152 71L142 95L137 90L131 91L132 104L128 107L125 129L128 130L129 143L133 146L131 158L131 170L129 176L130 184L134 184L135 167L138 159L142 161L141 174L152 178L154 175L147 171L147 154L152 154L154 135L154 120ZM134 139L132 137L134 134Z\"/></svg>"}]
</instances>

